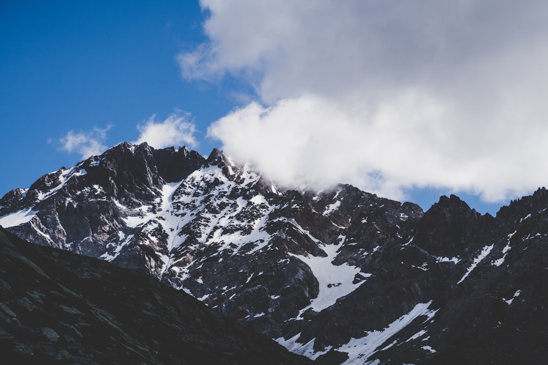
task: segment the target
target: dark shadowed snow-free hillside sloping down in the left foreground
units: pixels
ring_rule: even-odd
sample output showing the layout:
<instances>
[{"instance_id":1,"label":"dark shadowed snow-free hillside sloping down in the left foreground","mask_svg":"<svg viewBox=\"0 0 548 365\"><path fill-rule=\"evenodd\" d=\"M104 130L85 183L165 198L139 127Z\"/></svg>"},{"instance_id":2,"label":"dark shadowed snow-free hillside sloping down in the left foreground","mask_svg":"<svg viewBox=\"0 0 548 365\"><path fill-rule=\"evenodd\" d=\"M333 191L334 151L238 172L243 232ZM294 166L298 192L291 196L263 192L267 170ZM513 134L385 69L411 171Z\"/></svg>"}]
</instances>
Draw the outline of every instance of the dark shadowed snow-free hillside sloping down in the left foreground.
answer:
<instances>
[{"instance_id":1,"label":"dark shadowed snow-free hillside sloping down in the left foreground","mask_svg":"<svg viewBox=\"0 0 548 365\"><path fill-rule=\"evenodd\" d=\"M0 228L0 362L308 364L182 291Z\"/></svg>"}]
</instances>

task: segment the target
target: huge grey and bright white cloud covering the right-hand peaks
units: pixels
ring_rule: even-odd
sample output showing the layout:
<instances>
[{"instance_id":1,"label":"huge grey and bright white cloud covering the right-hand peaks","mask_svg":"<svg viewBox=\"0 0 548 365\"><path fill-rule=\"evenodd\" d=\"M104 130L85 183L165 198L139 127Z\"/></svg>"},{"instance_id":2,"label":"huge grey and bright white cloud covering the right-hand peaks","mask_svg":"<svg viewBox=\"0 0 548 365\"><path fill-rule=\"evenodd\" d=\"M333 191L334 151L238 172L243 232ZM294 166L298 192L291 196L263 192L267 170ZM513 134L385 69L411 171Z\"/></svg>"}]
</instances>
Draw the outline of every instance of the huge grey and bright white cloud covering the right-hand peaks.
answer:
<instances>
[{"instance_id":1,"label":"huge grey and bright white cloud covering the right-hand peaks","mask_svg":"<svg viewBox=\"0 0 548 365\"><path fill-rule=\"evenodd\" d=\"M548 182L548 3L202 0L187 80L230 73L260 100L213 123L286 183L495 202Z\"/></svg>"}]
</instances>

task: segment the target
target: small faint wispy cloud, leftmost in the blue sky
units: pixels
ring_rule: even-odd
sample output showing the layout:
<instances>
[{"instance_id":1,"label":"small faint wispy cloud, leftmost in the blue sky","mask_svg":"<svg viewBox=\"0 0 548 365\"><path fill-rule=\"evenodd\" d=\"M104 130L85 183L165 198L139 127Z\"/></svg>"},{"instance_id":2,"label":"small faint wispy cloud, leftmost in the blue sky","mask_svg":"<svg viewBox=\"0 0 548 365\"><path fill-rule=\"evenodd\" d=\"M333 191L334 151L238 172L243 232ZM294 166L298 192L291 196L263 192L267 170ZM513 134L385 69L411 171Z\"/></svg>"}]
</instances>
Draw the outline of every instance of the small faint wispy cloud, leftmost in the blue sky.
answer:
<instances>
[{"instance_id":1,"label":"small faint wispy cloud, leftmost in the blue sky","mask_svg":"<svg viewBox=\"0 0 548 365\"><path fill-rule=\"evenodd\" d=\"M111 128L107 126L105 129L94 128L92 131L68 131L66 136L59 140L50 140L50 143L59 143L59 148L69 153L79 153L82 159L87 159L93 155L100 155L105 152L106 132Z\"/></svg>"}]
</instances>

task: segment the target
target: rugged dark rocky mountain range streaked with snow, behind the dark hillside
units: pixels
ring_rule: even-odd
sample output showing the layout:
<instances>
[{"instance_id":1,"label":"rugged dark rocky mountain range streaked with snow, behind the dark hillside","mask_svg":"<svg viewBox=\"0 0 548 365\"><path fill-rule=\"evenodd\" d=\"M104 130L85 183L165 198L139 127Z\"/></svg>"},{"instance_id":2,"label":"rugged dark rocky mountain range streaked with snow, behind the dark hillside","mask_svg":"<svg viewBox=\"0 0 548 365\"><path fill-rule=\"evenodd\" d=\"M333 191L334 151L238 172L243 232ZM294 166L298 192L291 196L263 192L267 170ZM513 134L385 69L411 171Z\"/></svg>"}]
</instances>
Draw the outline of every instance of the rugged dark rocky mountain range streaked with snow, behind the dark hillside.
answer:
<instances>
[{"instance_id":1,"label":"rugged dark rocky mountain range streaked with snow, behind the dark hillside","mask_svg":"<svg viewBox=\"0 0 548 365\"><path fill-rule=\"evenodd\" d=\"M37 244L138 270L316 363L543 363L548 192L480 215L278 186L219 150L121 143L0 199Z\"/></svg>"}]
</instances>

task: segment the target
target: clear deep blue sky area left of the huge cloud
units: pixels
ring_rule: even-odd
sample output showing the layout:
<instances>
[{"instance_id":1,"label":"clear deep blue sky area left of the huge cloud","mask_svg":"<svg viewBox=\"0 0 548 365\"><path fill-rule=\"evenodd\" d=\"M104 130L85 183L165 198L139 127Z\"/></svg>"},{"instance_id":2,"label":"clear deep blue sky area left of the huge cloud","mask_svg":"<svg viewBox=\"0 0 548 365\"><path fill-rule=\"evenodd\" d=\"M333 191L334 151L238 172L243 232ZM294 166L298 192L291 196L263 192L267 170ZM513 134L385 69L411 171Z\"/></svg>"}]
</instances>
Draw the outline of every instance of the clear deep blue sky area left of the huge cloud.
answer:
<instances>
[{"instance_id":1,"label":"clear deep blue sky area left of the huge cloud","mask_svg":"<svg viewBox=\"0 0 548 365\"><path fill-rule=\"evenodd\" d=\"M197 149L207 126L237 103L227 82L184 82L175 56L204 40L197 2L2 2L2 194L72 166L77 152L48 142L111 128L105 146L135 141L136 126L175 109L192 114Z\"/></svg>"}]
</instances>

